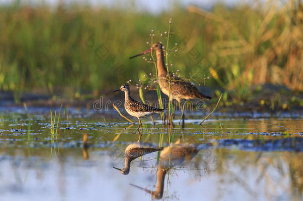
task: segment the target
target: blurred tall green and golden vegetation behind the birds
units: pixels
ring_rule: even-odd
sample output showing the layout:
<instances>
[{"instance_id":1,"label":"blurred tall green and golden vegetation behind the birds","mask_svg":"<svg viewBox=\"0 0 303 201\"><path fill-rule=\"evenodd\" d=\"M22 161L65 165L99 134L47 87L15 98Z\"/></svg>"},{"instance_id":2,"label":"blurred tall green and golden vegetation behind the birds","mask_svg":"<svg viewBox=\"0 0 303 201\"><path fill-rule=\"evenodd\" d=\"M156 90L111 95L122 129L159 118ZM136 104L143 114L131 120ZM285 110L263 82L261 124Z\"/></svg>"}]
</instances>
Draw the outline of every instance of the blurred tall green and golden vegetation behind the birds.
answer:
<instances>
[{"instance_id":1,"label":"blurred tall green and golden vegetation behind the birds","mask_svg":"<svg viewBox=\"0 0 303 201\"><path fill-rule=\"evenodd\" d=\"M171 46L179 48L170 69L195 84L219 86L241 101L265 83L303 90L301 0L217 4L211 11L174 5L157 15L80 4L2 4L0 90L13 91L16 99L24 91L77 97L130 79L135 84L154 66L128 58L150 47L150 34L154 42L166 41L169 18Z\"/></svg>"}]
</instances>

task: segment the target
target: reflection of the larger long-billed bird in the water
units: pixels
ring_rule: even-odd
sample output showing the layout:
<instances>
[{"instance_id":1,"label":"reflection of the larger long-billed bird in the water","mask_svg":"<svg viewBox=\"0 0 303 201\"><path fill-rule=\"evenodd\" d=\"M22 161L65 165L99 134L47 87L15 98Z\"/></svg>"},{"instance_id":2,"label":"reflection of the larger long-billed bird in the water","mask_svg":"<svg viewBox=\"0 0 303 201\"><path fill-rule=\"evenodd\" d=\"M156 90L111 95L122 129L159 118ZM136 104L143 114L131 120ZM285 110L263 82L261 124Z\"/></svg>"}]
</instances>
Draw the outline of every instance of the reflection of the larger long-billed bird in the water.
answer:
<instances>
[{"instance_id":1,"label":"reflection of the larger long-billed bird in the water","mask_svg":"<svg viewBox=\"0 0 303 201\"><path fill-rule=\"evenodd\" d=\"M181 165L184 161L190 161L196 156L199 150L200 149L198 149L192 144L174 144L170 146L170 148L169 146L165 147L160 154L159 165L157 170L156 190L151 191L134 184L131 185L150 193L151 196L155 199L161 199L163 196L164 179L167 171L174 166Z\"/></svg>"}]
</instances>

